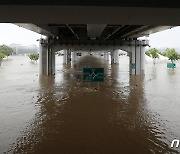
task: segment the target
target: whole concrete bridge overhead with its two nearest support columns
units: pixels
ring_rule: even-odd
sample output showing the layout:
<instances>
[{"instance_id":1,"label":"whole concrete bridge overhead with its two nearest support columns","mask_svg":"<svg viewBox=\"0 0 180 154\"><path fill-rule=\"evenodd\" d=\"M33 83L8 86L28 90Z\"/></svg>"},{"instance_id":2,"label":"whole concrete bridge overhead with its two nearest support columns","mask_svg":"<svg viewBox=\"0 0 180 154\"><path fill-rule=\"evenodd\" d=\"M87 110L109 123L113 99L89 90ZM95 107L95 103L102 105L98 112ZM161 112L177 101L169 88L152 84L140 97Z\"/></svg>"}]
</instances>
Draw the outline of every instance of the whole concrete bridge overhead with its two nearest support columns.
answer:
<instances>
[{"instance_id":1,"label":"whole concrete bridge overhead with its two nearest support columns","mask_svg":"<svg viewBox=\"0 0 180 154\"><path fill-rule=\"evenodd\" d=\"M54 74L54 53L61 49L108 50L112 58L123 49L131 52L131 74L144 74L148 42L137 38L180 25L177 0L3 0L0 4L0 22L47 36L40 40L40 73L46 75Z\"/></svg>"}]
</instances>

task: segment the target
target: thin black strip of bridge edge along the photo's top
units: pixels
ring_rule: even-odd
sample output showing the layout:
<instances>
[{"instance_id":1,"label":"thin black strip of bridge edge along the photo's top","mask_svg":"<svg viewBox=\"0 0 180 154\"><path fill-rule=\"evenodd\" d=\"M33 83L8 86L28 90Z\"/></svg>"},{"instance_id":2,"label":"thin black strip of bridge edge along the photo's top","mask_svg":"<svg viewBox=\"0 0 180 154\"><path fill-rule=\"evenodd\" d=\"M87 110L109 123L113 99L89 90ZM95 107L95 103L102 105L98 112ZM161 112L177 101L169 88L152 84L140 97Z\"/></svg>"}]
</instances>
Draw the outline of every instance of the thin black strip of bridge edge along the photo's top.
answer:
<instances>
[{"instance_id":1,"label":"thin black strip of bridge edge along the photo's top","mask_svg":"<svg viewBox=\"0 0 180 154\"><path fill-rule=\"evenodd\" d=\"M1 5L73 5L180 8L179 0L1 0Z\"/></svg>"}]
</instances>

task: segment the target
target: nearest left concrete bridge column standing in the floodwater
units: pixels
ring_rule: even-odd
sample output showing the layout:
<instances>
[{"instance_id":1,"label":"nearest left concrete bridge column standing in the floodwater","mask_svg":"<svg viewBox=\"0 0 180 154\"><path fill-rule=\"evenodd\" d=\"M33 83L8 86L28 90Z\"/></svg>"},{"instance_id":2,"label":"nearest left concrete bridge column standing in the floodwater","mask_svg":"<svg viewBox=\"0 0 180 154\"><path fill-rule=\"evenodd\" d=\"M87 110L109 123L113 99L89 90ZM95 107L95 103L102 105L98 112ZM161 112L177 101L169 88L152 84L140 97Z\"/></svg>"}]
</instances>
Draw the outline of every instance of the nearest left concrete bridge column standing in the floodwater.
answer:
<instances>
[{"instance_id":1,"label":"nearest left concrete bridge column standing in the floodwater","mask_svg":"<svg viewBox=\"0 0 180 154\"><path fill-rule=\"evenodd\" d=\"M55 52L52 51L51 46L40 44L39 74L55 74Z\"/></svg>"}]
</instances>

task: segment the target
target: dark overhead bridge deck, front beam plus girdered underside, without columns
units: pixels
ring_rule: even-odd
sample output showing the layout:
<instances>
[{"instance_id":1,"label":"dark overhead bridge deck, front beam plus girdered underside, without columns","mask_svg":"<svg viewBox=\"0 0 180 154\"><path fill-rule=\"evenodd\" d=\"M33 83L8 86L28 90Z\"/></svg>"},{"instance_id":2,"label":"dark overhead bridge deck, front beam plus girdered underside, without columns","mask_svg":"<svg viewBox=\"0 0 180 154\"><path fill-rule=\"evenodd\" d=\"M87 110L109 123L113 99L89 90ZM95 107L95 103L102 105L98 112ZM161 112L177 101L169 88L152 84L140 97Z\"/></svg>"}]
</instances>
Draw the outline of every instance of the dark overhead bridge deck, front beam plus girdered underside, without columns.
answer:
<instances>
[{"instance_id":1,"label":"dark overhead bridge deck, front beam plus girdered underside, without columns","mask_svg":"<svg viewBox=\"0 0 180 154\"><path fill-rule=\"evenodd\" d=\"M4 2L0 2L4 4L0 5L0 22L16 23L46 36L58 36L62 41L134 39L180 25L180 9L172 2L162 5L159 1L141 0L29 1L32 5L21 0L16 1L21 5Z\"/></svg>"}]
</instances>

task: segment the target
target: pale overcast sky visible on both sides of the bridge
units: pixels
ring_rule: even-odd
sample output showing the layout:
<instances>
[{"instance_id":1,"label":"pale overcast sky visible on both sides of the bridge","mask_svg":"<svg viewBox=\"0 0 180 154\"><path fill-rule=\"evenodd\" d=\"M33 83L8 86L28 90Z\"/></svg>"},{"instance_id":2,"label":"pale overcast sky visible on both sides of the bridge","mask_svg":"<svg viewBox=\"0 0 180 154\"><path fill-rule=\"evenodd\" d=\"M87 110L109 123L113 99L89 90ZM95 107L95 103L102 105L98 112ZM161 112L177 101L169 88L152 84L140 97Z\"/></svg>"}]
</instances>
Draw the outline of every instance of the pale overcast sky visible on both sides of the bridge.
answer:
<instances>
[{"instance_id":1,"label":"pale overcast sky visible on both sides of the bridge","mask_svg":"<svg viewBox=\"0 0 180 154\"><path fill-rule=\"evenodd\" d=\"M0 24L0 45L18 43L22 45L38 45L40 34L18 27L14 24ZM180 27L152 34L148 37L151 47L180 48Z\"/></svg>"}]
</instances>

